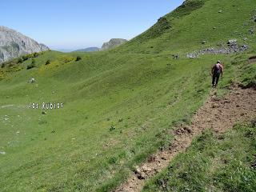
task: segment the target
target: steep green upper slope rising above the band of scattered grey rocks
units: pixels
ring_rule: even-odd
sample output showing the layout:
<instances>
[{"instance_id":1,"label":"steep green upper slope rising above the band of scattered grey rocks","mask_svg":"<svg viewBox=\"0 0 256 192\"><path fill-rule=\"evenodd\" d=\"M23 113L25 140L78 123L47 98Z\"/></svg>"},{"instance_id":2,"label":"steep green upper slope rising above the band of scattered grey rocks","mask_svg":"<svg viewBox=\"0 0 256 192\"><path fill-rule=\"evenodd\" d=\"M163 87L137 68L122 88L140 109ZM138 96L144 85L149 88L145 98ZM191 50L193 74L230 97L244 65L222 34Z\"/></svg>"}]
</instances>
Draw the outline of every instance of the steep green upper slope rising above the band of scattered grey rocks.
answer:
<instances>
[{"instance_id":1,"label":"steep green upper slope rising above the band of scattered grey rocks","mask_svg":"<svg viewBox=\"0 0 256 192\"><path fill-rule=\"evenodd\" d=\"M156 54L164 51L171 54L185 54L199 47L203 49L226 44L227 39L230 38L237 38L240 43L244 43L243 39L248 38L246 44L255 47L254 34L250 35L248 32L255 28L252 19L255 14L253 5L254 2L250 0L244 2L211 0L182 17L175 18L172 16L173 13L166 14L164 18L172 26L166 30L166 33L142 42L134 38L113 52ZM222 10L222 13L218 13L219 10ZM206 41L206 44L202 45L202 41ZM140 46L139 50L135 48L138 46Z\"/></svg>"}]
</instances>

